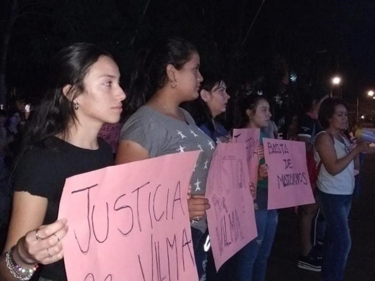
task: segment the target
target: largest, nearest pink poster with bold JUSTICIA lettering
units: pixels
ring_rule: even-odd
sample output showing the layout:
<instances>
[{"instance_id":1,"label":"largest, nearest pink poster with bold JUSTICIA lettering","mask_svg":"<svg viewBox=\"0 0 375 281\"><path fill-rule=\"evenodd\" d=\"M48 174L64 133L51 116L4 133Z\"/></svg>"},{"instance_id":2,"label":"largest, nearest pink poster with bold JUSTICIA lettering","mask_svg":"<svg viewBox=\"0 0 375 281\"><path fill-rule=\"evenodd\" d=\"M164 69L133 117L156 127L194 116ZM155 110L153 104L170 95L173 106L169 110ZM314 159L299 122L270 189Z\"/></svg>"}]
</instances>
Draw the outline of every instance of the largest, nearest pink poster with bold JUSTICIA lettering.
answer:
<instances>
[{"instance_id":1,"label":"largest, nearest pink poster with bold JUSTICIA lettering","mask_svg":"<svg viewBox=\"0 0 375 281\"><path fill-rule=\"evenodd\" d=\"M197 281L187 189L198 154L68 178L59 212L68 281Z\"/></svg>"}]
</instances>

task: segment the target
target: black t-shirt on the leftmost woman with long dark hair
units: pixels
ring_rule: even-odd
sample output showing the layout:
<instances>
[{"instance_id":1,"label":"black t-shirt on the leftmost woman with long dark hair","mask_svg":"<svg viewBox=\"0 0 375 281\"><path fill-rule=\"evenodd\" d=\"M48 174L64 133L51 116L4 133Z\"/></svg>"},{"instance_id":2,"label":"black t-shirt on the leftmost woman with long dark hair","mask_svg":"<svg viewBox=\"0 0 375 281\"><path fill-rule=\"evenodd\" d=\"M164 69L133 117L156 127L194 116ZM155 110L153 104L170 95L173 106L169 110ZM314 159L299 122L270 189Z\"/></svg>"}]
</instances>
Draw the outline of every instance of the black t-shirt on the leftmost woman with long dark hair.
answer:
<instances>
[{"instance_id":1,"label":"black t-shirt on the leftmost woman with long dark hair","mask_svg":"<svg viewBox=\"0 0 375 281\"><path fill-rule=\"evenodd\" d=\"M43 146L34 147L22 156L16 169L15 191L48 199L43 224L57 220L66 178L113 165L110 146L100 138L98 144L97 150L90 150L50 137ZM40 276L65 281L63 260L44 265Z\"/></svg>"}]
</instances>

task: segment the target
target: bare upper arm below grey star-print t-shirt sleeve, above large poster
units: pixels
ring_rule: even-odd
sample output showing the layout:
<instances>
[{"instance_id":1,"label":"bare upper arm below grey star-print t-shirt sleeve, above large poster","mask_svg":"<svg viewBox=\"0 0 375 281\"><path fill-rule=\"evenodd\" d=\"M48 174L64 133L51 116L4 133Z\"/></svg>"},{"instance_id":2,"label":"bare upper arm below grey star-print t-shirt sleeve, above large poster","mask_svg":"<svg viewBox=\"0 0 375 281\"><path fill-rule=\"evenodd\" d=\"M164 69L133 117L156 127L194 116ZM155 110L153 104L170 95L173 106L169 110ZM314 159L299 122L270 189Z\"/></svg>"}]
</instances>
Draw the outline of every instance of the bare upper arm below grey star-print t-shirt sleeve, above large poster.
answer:
<instances>
[{"instance_id":1,"label":"bare upper arm below grey star-print t-shirt sleeve, above large poster","mask_svg":"<svg viewBox=\"0 0 375 281\"><path fill-rule=\"evenodd\" d=\"M120 141L117 147L116 165L148 159L148 151L135 141Z\"/></svg>"}]
</instances>

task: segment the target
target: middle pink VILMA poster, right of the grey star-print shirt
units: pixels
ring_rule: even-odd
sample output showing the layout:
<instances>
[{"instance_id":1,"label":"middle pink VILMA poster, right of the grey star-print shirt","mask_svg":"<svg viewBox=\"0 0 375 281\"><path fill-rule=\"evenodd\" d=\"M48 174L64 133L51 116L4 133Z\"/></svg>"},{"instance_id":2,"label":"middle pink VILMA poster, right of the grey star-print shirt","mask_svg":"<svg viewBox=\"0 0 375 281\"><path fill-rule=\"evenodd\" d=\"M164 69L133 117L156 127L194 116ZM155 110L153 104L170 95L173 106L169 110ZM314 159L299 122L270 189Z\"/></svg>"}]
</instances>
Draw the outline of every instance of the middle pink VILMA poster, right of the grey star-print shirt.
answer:
<instances>
[{"instance_id":1,"label":"middle pink VILMA poster, right of the grey star-print shirt","mask_svg":"<svg viewBox=\"0 0 375 281\"><path fill-rule=\"evenodd\" d=\"M257 236L243 143L218 143L208 171L208 231L216 270Z\"/></svg>"}]
</instances>

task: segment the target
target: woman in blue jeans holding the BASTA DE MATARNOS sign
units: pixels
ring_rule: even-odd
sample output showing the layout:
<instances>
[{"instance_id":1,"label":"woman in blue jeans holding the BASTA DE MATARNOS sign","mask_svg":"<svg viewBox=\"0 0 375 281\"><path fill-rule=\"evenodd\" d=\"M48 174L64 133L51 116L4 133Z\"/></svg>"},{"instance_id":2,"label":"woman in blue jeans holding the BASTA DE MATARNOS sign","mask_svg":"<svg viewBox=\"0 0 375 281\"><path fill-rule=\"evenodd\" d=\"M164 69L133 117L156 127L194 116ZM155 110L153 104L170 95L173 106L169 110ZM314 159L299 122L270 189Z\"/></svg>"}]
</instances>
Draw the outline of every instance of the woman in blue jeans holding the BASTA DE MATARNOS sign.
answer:
<instances>
[{"instance_id":1,"label":"woman in blue jeans holding the BASTA DE MATARNOS sign","mask_svg":"<svg viewBox=\"0 0 375 281\"><path fill-rule=\"evenodd\" d=\"M236 127L263 129L268 127L271 118L270 104L261 96L248 95L238 102L238 117ZM267 210L268 174L264 161L263 138L260 132L261 149L258 149L259 174L257 183L255 221L258 237L250 241L237 253L237 281L264 281L266 277L267 260L271 253L273 240L278 222L277 210Z\"/></svg>"}]
</instances>

